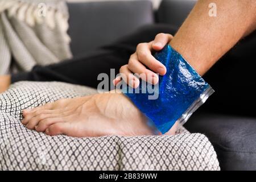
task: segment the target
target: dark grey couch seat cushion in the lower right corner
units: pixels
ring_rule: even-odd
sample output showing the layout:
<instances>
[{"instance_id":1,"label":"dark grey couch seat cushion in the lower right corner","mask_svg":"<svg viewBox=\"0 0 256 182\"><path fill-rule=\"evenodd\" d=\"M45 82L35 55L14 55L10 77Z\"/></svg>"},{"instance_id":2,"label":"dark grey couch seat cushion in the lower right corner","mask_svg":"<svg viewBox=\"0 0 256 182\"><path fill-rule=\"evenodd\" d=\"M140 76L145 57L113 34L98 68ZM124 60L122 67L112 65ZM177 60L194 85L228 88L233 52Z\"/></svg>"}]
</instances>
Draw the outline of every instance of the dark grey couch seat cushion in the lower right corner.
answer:
<instances>
[{"instance_id":1,"label":"dark grey couch seat cushion in the lower right corner","mask_svg":"<svg viewBox=\"0 0 256 182\"><path fill-rule=\"evenodd\" d=\"M207 135L222 170L256 170L256 118L197 112L185 127Z\"/></svg>"}]
</instances>

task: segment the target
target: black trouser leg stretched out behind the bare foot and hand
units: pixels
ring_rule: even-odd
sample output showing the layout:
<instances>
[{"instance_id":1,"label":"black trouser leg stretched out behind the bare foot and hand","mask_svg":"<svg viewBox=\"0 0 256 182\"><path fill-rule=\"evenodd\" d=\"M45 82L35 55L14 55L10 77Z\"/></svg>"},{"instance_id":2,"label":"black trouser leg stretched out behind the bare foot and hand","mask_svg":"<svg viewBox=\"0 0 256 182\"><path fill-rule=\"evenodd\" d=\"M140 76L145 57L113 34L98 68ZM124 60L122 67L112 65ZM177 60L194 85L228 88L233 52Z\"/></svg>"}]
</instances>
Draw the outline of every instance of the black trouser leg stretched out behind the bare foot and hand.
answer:
<instances>
[{"instance_id":1,"label":"black trouser leg stretched out behind the bare foot and hand","mask_svg":"<svg viewBox=\"0 0 256 182\"><path fill-rule=\"evenodd\" d=\"M12 82L22 80L63 81L96 88L100 82L97 81L98 75L107 73L110 76L110 69L115 69L115 74L117 74L119 68L127 64L138 43L154 40L155 35L159 32L174 34L175 30L172 26L145 26L110 46L104 46L94 52L86 53L85 56L58 64L36 65L30 72L12 75L11 80Z\"/></svg>"}]
</instances>

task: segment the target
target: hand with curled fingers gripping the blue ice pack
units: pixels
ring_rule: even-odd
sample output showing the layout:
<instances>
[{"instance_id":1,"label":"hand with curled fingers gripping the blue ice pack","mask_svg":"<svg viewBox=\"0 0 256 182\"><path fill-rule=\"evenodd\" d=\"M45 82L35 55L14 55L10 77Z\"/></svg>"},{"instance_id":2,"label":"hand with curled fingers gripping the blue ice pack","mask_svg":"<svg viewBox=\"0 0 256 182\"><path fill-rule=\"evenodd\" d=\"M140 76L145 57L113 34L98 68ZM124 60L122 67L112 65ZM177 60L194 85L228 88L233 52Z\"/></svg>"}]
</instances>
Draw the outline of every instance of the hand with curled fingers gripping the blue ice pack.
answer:
<instances>
[{"instance_id":1,"label":"hand with curled fingers gripping the blue ice pack","mask_svg":"<svg viewBox=\"0 0 256 182\"><path fill-rule=\"evenodd\" d=\"M137 88L139 86L139 78L150 82L150 84L157 84L159 78L156 73L165 75L166 67L156 60L151 52L160 51L172 38L171 34L160 33L155 36L154 41L138 44L136 52L130 56L129 63L120 68L121 75L113 80L113 84L117 85L118 82L124 80L131 87ZM138 74L139 78L132 73Z\"/></svg>"}]
</instances>

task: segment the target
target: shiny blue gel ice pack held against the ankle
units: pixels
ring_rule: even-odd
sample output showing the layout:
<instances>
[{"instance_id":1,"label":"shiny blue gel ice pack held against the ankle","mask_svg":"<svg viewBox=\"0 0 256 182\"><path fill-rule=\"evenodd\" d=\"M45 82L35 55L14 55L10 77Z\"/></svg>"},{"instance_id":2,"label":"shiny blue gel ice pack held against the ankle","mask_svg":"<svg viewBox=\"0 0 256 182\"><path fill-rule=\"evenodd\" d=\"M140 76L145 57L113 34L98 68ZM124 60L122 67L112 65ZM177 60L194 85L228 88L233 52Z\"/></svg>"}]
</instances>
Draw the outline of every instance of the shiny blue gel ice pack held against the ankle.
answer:
<instances>
[{"instance_id":1,"label":"shiny blue gel ice pack held against the ankle","mask_svg":"<svg viewBox=\"0 0 256 182\"><path fill-rule=\"evenodd\" d=\"M170 45L156 52L154 57L167 68L166 75L159 76L159 83L151 85L141 80L137 92L129 86L122 88L122 92L164 134L175 122L183 125L214 90ZM157 99L149 99L152 93L147 91L148 86L154 88Z\"/></svg>"}]
</instances>

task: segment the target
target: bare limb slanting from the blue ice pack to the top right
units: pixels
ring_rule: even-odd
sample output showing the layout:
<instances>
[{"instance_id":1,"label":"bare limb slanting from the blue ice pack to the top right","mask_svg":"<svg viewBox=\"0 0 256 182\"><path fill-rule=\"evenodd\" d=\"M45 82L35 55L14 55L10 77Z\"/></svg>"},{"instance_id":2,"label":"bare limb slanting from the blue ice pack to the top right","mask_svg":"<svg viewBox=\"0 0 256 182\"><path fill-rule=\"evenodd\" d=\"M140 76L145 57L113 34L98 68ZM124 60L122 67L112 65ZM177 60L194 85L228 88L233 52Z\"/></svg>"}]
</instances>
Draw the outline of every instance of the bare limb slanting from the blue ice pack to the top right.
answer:
<instances>
[{"instance_id":1,"label":"bare limb slanting from the blue ice pack to the top right","mask_svg":"<svg viewBox=\"0 0 256 182\"><path fill-rule=\"evenodd\" d=\"M256 27L256 1L215 0L216 17L211 2L199 0L170 43L200 75Z\"/></svg>"}]
</instances>

